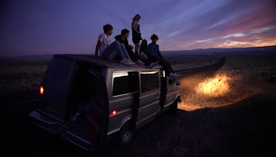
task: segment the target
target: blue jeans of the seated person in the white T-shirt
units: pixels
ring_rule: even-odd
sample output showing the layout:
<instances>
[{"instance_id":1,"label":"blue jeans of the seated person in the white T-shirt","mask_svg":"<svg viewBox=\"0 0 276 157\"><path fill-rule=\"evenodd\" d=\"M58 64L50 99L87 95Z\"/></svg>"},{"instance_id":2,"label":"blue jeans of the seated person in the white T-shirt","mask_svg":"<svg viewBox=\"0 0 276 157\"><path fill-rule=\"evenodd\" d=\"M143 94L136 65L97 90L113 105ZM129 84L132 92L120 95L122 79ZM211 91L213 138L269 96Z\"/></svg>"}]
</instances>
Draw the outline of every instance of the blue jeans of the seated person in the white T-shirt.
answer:
<instances>
[{"instance_id":1,"label":"blue jeans of the seated person in the white T-shirt","mask_svg":"<svg viewBox=\"0 0 276 157\"><path fill-rule=\"evenodd\" d=\"M124 44L119 43L119 41L114 41L108 47L103 50L101 57L103 59L113 59L115 56L118 56L119 59L129 59L128 52Z\"/></svg>"}]
</instances>

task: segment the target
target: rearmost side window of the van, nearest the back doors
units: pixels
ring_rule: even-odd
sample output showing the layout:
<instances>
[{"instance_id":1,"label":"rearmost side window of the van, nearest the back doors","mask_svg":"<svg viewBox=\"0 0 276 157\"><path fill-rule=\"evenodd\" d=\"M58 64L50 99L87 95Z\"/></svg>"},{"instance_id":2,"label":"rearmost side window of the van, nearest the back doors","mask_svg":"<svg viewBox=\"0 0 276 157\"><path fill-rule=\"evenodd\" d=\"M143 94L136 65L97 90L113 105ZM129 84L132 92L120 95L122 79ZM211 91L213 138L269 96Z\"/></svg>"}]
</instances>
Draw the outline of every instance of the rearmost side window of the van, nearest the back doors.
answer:
<instances>
[{"instance_id":1,"label":"rearmost side window of the van, nearest the back doors","mask_svg":"<svg viewBox=\"0 0 276 157\"><path fill-rule=\"evenodd\" d=\"M113 72L113 96L139 91L138 72Z\"/></svg>"}]
</instances>

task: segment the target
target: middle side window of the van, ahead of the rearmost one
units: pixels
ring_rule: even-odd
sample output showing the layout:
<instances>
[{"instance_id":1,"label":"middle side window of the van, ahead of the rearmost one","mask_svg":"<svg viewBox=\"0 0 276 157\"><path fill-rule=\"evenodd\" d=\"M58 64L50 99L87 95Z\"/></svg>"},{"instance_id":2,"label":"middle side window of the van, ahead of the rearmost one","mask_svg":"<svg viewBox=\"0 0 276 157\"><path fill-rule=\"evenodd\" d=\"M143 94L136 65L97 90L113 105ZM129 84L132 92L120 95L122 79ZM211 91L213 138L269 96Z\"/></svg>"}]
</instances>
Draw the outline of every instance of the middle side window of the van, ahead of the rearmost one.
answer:
<instances>
[{"instance_id":1,"label":"middle side window of the van, ahead of the rearmost one","mask_svg":"<svg viewBox=\"0 0 276 157\"><path fill-rule=\"evenodd\" d=\"M141 72L141 92L157 90L159 88L158 71Z\"/></svg>"}]
</instances>

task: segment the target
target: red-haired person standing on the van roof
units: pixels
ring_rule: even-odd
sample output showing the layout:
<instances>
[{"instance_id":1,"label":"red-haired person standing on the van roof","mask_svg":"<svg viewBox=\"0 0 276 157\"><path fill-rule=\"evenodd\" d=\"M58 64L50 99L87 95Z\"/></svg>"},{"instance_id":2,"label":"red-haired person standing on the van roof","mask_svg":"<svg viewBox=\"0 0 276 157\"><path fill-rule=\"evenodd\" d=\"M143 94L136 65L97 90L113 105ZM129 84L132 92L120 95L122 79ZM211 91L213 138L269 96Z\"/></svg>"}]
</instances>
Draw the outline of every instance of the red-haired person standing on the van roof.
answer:
<instances>
[{"instance_id":1,"label":"red-haired person standing on the van roof","mask_svg":"<svg viewBox=\"0 0 276 157\"><path fill-rule=\"evenodd\" d=\"M135 17L132 19L131 28L132 28L132 41L135 44L135 54L138 56L139 51L139 43L141 39L141 32L140 32L140 25L138 24L141 16L136 14ZM141 56L141 55L139 55Z\"/></svg>"}]
</instances>

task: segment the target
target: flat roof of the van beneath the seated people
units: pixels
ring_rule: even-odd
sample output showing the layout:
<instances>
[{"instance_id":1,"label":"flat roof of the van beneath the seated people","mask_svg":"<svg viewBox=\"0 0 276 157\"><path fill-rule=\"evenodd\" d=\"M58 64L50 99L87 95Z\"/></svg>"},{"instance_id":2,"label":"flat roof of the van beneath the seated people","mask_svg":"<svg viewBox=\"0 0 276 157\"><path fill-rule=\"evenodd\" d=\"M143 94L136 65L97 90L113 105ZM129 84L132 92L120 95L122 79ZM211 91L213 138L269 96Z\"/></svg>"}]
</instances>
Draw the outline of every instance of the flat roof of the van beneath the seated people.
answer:
<instances>
[{"instance_id":1,"label":"flat roof of the van beneath the seated people","mask_svg":"<svg viewBox=\"0 0 276 157\"><path fill-rule=\"evenodd\" d=\"M55 58L60 59L67 59L70 61L76 61L78 63L88 63L91 65L97 65L101 67L107 67L107 68L122 68L122 69L137 69L137 68L145 68L144 65L124 65L122 63L119 63L119 61L116 60L106 60L101 59L100 56L94 56L89 54L55 54ZM157 65L155 66L155 69L160 69L161 66Z\"/></svg>"}]
</instances>

